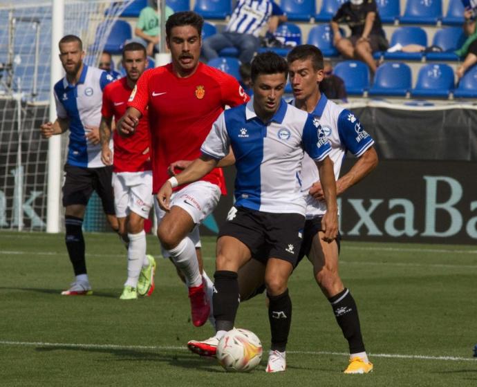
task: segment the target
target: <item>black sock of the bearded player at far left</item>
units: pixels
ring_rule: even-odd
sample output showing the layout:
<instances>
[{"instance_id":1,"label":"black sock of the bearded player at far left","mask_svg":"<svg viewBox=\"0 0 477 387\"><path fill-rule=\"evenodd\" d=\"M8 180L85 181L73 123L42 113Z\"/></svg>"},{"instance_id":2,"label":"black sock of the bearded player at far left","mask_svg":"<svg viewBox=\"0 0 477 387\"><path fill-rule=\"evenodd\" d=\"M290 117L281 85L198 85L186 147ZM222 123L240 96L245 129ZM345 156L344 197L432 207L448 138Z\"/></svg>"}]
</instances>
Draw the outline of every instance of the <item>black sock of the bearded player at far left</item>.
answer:
<instances>
[{"instance_id":1,"label":"black sock of the bearded player at far left","mask_svg":"<svg viewBox=\"0 0 477 387\"><path fill-rule=\"evenodd\" d=\"M86 260L84 258L83 220L76 216L64 217L66 227L66 248L73 264L75 276L86 274Z\"/></svg>"}]
</instances>

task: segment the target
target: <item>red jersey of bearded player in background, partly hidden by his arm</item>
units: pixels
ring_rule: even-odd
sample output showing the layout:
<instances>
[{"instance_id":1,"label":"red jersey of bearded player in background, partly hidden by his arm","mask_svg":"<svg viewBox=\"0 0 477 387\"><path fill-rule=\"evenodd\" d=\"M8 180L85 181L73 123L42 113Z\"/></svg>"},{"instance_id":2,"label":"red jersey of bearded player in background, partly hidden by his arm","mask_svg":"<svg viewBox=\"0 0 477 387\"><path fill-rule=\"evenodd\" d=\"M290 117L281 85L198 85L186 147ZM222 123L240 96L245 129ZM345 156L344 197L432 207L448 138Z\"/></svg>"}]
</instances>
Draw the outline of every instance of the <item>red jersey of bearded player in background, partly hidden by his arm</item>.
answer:
<instances>
[{"instance_id":1,"label":"red jersey of bearded player in background, partly hidden by his arm","mask_svg":"<svg viewBox=\"0 0 477 387\"><path fill-rule=\"evenodd\" d=\"M107 85L103 91L102 116L106 118L114 116L115 121L118 122L122 115L126 113L127 101L131 91L133 89L127 85L126 77ZM113 143L113 171L151 171L151 152L149 151L151 138L147 109L139 120L134 135L126 138L119 135L118 131L113 131Z\"/></svg>"}]
</instances>

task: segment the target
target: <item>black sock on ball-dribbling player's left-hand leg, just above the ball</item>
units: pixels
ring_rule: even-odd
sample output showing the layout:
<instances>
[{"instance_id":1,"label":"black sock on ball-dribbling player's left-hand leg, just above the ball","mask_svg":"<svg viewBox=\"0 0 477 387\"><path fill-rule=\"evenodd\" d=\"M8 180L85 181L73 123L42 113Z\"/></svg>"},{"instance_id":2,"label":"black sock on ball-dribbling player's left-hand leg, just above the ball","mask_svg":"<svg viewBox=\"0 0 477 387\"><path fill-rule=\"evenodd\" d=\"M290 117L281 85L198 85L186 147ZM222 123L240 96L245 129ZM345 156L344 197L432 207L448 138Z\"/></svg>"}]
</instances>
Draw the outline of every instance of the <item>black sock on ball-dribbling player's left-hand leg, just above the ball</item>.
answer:
<instances>
[{"instance_id":1,"label":"black sock on ball-dribbling player's left-hand leg, just above the ball","mask_svg":"<svg viewBox=\"0 0 477 387\"><path fill-rule=\"evenodd\" d=\"M214 274L214 317L216 330L234 328L235 317L240 303L236 272L218 270Z\"/></svg>"}]
</instances>

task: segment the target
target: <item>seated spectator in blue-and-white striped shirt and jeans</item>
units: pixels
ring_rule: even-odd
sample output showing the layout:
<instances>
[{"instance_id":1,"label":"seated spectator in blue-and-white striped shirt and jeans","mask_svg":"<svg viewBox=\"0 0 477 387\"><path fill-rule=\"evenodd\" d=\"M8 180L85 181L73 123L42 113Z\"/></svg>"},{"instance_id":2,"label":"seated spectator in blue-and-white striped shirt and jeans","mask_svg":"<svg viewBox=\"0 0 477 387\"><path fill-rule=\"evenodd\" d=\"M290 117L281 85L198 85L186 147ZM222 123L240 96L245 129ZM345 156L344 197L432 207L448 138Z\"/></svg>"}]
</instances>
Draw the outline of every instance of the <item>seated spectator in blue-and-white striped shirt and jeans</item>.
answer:
<instances>
[{"instance_id":1,"label":"seated spectator in blue-and-white striped shirt and jeans","mask_svg":"<svg viewBox=\"0 0 477 387\"><path fill-rule=\"evenodd\" d=\"M268 30L274 32L279 22L286 21L283 10L272 0L238 0L225 31L203 41L202 55L205 61L218 57L218 51L236 47L238 59L250 63L260 47L260 32L268 22Z\"/></svg>"}]
</instances>

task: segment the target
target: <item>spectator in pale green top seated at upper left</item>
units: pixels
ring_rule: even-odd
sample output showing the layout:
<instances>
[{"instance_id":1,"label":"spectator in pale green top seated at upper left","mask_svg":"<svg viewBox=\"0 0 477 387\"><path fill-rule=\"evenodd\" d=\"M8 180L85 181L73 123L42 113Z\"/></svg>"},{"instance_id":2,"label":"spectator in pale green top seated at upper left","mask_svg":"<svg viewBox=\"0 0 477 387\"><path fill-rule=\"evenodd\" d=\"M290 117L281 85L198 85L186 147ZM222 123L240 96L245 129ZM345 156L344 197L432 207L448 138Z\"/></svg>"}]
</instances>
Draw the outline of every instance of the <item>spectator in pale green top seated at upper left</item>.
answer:
<instances>
[{"instance_id":1,"label":"spectator in pale green top seated at upper left","mask_svg":"<svg viewBox=\"0 0 477 387\"><path fill-rule=\"evenodd\" d=\"M167 20L167 18L174 13L174 10L166 6L165 13ZM153 53L159 52L159 28L158 0L151 0L151 6L143 8L139 14L138 23L134 30L136 38L133 39L144 45L149 57L153 55Z\"/></svg>"}]
</instances>

